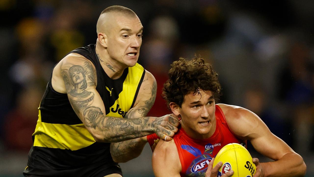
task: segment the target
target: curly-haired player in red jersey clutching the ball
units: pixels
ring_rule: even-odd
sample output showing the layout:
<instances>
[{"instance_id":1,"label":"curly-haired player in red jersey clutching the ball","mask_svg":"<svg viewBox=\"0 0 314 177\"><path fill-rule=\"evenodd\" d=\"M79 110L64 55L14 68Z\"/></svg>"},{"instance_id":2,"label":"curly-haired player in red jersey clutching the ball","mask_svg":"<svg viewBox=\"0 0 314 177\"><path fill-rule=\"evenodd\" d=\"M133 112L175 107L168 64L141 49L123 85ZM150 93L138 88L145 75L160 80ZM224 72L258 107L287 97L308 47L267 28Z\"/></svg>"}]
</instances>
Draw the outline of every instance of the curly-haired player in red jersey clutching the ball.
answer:
<instances>
[{"instance_id":1,"label":"curly-haired player in red jersey clutching the ball","mask_svg":"<svg viewBox=\"0 0 314 177\"><path fill-rule=\"evenodd\" d=\"M254 177L304 176L303 158L283 140L272 134L253 112L226 104L216 104L221 86L212 66L201 58L174 61L164 84L168 108L180 118L181 127L171 141L160 138L153 152L156 177L228 177L233 170L213 167L214 157L229 143L246 145L249 140L257 152L273 162L256 164ZM148 135L152 146L157 136Z\"/></svg>"}]
</instances>

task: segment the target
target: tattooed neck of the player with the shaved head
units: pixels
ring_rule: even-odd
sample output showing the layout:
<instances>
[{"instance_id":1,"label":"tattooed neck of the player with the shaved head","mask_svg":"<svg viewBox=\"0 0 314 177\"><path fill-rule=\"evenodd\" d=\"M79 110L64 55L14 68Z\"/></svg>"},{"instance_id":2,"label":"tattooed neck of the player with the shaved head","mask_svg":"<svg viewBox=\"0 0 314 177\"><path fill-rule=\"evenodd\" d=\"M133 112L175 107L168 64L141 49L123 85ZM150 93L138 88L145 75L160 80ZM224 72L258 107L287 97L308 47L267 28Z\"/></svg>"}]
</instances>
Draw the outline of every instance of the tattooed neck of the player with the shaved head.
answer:
<instances>
[{"instance_id":1,"label":"tattooed neck of the player with the shaved head","mask_svg":"<svg viewBox=\"0 0 314 177\"><path fill-rule=\"evenodd\" d=\"M121 66L121 64L111 59L107 50L100 45L98 40L96 43L96 54L100 65L111 79L117 79L122 76L124 69L127 67Z\"/></svg>"}]
</instances>

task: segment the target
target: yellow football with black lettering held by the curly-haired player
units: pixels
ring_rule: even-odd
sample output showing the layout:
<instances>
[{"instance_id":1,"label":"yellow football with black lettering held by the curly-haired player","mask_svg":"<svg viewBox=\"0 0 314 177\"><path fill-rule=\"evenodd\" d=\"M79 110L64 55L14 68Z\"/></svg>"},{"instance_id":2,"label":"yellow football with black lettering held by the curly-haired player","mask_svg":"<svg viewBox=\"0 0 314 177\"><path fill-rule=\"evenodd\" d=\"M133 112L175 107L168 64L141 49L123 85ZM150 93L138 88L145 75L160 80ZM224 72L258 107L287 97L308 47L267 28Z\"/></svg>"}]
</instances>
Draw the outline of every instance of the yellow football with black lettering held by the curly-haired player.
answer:
<instances>
[{"instance_id":1,"label":"yellow football with black lettering held by the curly-haired player","mask_svg":"<svg viewBox=\"0 0 314 177\"><path fill-rule=\"evenodd\" d=\"M222 167L219 169L217 177L226 174L230 170L234 171L232 176L239 177L252 177L256 172L251 154L238 143L230 143L221 148L215 157L213 168L220 161Z\"/></svg>"}]
</instances>

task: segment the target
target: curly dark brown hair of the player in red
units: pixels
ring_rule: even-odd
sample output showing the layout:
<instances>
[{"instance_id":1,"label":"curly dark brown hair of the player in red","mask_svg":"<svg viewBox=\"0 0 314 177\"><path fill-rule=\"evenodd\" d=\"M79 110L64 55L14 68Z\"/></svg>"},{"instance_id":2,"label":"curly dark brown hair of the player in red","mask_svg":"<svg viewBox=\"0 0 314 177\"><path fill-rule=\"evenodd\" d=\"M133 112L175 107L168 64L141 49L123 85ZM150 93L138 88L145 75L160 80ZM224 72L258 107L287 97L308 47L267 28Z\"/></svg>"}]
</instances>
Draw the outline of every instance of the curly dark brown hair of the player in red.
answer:
<instances>
[{"instance_id":1,"label":"curly dark brown hair of the player in red","mask_svg":"<svg viewBox=\"0 0 314 177\"><path fill-rule=\"evenodd\" d=\"M184 96L189 92L195 94L199 90L212 92L215 101L219 98L221 86L218 74L212 69L211 64L205 63L202 58L179 58L171 64L168 72L169 79L164 83L162 97L169 103L175 102L182 106Z\"/></svg>"}]
</instances>

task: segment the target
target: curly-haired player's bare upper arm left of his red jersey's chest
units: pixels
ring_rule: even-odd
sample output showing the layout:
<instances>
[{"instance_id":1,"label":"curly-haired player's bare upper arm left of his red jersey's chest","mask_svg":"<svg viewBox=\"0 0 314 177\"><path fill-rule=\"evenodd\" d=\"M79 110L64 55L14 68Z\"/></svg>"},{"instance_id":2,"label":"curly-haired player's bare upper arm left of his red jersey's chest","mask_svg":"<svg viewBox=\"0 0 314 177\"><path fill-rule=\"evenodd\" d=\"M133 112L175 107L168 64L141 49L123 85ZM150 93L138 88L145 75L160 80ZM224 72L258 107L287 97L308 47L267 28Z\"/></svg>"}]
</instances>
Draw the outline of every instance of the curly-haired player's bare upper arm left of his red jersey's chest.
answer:
<instances>
[{"instance_id":1,"label":"curly-haired player's bare upper arm left of his red jersey's chest","mask_svg":"<svg viewBox=\"0 0 314 177\"><path fill-rule=\"evenodd\" d=\"M160 140L152 157L155 177L180 177L181 163L174 140Z\"/></svg>"}]
</instances>

